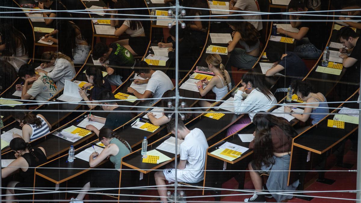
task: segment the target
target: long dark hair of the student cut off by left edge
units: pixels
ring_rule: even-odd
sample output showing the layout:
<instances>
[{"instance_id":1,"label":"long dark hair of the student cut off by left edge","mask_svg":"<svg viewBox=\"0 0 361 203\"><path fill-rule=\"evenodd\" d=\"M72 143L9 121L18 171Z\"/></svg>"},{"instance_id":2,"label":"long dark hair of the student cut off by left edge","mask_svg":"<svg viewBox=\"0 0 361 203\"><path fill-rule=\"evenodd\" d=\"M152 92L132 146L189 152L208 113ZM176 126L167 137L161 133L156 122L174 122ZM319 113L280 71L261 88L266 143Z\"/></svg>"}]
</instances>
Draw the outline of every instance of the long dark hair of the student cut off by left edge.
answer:
<instances>
[{"instance_id":1,"label":"long dark hair of the student cut off by left edge","mask_svg":"<svg viewBox=\"0 0 361 203\"><path fill-rule=\"evenodd\" d=\"M5 44L3 55L16 56L16 49L21 46L22 53L27 53L25 36L17 30L14 26L8 23L0 25L0 35L2 44Z\"/></svg>"}]
</instances>

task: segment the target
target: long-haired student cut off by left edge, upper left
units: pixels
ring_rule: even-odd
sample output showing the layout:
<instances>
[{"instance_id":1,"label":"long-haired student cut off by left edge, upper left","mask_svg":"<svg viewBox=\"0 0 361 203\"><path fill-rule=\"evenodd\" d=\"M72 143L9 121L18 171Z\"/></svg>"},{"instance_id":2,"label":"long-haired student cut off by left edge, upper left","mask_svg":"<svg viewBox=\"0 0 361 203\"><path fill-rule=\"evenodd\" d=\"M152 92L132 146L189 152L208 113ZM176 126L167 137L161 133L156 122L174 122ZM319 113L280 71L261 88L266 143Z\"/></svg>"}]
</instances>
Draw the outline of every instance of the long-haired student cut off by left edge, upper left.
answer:
<instances>
[{"instance_id":1,"label":"long-haired student cut off by left edge, upper left","mask_svg":"<svg viewBox=\"0 0 361 203\"><path fill-rule=\"evenodd\" d=\"M29 61L25 35L8 23L0 25L1 60L8 61L16 70Z\"/></svg>"}]
</instances>

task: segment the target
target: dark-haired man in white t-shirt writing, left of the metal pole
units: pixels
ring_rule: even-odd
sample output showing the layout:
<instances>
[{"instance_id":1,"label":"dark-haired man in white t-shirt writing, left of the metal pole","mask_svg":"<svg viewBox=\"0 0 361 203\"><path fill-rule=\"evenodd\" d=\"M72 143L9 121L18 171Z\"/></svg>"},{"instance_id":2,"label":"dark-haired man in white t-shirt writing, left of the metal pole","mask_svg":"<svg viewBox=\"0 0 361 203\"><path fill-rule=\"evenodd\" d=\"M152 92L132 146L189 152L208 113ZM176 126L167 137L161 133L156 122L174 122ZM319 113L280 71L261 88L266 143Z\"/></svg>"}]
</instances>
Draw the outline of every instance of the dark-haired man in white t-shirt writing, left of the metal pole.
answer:
<instances>
[{"instance_id":1,"label":"dark-haired man in white t-shirt writing, left of the metal pole","mask_svg":"<svg viewBox=\"0 0 361 203\"><path fill-rule=\"evenodd\" d=\"M136 91L132 87L128 87L127 92L134 94L136 98L141 99L142 102L145 102L147 106L151 106L156 103L159 98L162 97L165 91L172 90L174 88L172 81L161 70L152 70L147 62L145 61L137 61L134 65L134 72L144 78L135 79L134 83L136 85L147 83L147 88L145 88L144 93L140 93ZM149 96L153 95L153 100L145 100L149 98Z\"/></svg>"}]
</instances>

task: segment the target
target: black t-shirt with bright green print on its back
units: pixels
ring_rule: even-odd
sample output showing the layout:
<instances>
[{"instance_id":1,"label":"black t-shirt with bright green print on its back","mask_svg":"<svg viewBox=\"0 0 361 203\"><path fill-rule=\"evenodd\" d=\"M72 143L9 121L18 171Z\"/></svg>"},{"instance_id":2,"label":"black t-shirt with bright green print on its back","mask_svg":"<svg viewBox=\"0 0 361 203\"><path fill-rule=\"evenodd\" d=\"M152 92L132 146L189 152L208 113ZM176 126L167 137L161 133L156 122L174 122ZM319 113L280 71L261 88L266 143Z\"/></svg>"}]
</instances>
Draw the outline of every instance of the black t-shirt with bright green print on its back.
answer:
<instances>
[{"instance_id":1,"label":"black t-shirt with bright green print on its back","mask_svg":"<svg viewBox=\"0 0 361 203\"><path fill-rule=\"evenodd\" d=\"M134 65L132 53L118 43L110 44L109 48L113 49L109 55L109 67L114 69L113 74L129 77L133 72L131 67Z\"/></svg>"}]
</instances>

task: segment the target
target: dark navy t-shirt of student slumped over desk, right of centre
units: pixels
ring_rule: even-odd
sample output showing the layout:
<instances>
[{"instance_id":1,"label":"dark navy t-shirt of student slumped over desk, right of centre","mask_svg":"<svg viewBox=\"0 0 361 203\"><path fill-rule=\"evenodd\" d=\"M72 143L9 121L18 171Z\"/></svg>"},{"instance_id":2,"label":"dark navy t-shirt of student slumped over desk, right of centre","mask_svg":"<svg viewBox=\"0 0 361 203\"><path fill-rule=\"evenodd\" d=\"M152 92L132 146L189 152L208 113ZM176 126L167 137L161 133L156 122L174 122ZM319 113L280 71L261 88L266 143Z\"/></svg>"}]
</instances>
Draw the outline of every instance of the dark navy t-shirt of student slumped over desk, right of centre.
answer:
<instances>
[{"instance_id":1,"label":"dark navy t-shirt of student slumped over desk, right of centre","mask_svg":"<svg viewBox=\"0 0 361 203\"><path fill-rule=\"evenodd\" d=\"M286 77L304 78L308 73L306 64L295 53L288 51L286 54L287 56L283 57L282 61L278 63L284 67L284 70L279 73L286 75Z\"/></svg>"}]
</instances>

